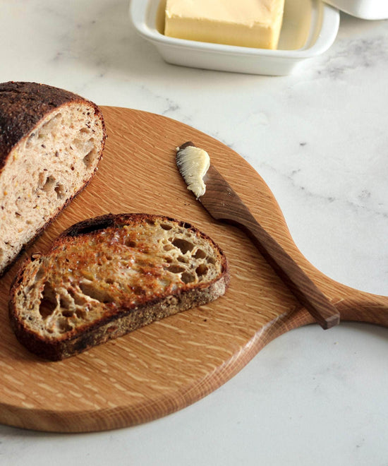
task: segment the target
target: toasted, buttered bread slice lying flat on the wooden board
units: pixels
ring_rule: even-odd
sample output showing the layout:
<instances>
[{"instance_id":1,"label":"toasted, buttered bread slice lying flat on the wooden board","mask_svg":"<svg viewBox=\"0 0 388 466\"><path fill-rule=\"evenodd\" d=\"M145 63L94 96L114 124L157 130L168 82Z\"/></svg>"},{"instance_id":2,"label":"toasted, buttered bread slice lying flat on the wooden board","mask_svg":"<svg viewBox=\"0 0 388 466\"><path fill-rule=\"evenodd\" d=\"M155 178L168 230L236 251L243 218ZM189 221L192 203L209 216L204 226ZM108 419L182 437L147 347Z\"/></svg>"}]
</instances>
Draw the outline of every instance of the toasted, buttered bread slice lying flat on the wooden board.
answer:
<instances>
[{"instance_id":1,"label":"toasted, buttered bread slice lying flat on the wooden board","mask_svg":"<svg viewBox=\"0 0 388 466\"><path fill-rule=\"evenodd\" d=\"M20 343L59 360L207 304L228 284L224 253L192 225L109 214L73 225L23 263L9 315Z\"/></svg>"}]
</instances>

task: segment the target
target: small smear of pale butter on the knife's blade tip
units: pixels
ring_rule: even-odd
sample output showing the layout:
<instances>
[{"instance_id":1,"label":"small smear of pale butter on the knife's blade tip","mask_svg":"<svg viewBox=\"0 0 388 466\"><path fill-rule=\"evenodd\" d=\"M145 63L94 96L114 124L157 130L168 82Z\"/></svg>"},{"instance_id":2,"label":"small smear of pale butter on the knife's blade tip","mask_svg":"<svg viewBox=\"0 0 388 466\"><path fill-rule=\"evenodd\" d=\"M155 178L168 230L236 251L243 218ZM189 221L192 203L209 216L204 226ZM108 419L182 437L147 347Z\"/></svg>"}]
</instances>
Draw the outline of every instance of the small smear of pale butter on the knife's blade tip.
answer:
<instances>
[{"instance_id":1,"label":"small smear of pale butter on the knife's blade tip","mask_svg":"<svg viewBox=\"0 0 388 466\"><path fill-rule=\"evenodd\" d=\"M210 157L206 150L193 145L180 150L177 149L176 165L183 179L186 181L187 189L193 191L196 198L200 198L206 192L203 177L210 167Z\"/></svg>"}]
</instances>

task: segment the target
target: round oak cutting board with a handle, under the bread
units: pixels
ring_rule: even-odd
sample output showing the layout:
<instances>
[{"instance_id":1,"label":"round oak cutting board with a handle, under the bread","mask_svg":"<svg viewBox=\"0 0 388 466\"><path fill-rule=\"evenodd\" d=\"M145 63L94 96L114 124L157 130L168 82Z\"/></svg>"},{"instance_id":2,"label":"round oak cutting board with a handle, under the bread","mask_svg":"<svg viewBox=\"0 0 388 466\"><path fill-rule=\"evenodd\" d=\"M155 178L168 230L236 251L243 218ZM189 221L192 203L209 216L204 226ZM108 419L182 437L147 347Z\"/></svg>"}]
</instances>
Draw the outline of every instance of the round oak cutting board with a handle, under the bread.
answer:
<instances>
[{"instance_id":1,"label":"round oak cutting board with a handle, under the bread","mask_svg":"<svg viewBox=\"0 0 388 466\"><path fill-rule=\"evenodd\" d=\"M267 185L233 150L166 117L117 107L102 110L108 139L97 176L28 253L46 251L63 229L87 217L163 214L191 222L222 246L231 285L208 306L77 357L45 362L21 347L9 327L8 289L17 263L0 284L1 423L81 432L147 422L199 400L233 377L274 337L313 322L244 234L212 220L186 189L176 169L175 148L189 140L210 153L212 164L262 226L337 304L342 320L388 325L387 297L340 285L308 263L293 244Z\"/></svg>"}]
</instances>

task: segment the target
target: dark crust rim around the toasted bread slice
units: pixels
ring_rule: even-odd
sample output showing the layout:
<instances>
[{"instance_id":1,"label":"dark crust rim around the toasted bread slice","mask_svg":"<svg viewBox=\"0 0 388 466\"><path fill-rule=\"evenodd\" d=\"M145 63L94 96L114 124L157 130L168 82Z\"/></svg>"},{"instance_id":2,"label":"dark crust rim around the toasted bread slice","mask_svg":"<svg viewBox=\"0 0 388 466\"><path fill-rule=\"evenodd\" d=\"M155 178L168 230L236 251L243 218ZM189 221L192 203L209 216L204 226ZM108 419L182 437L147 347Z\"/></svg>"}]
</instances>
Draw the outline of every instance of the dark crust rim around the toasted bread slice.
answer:
<instances>
[{"instance_id":1,"label":"dark crust rim around the toasted bread slice","mask_svg":"<svg viewBox=\"0 0 388 466\"><path fill-rule=\"evenodd\" d=\"M205 233L200 232L200 230L193 227L193 225L190 225L188 222L179 221L172 217L128 213L119 215L107 214L83 220L82 222L78 222L72 227L66 229L61 235L59 235L46 256L52 251L55 251L56 247L61 246L66 238L92 235L101 229L131 225L132 222L136 221L145 220L152 222L155 218L162 221L177 222L178 225L181 225L185 229L192 230L205 241L210 241L214 248L220 253L222 273L220 273L214 280L195 285L195 287L183 286L181 289L176 289L176 291L171 292L171 294L162 298L152 300L145 299L143 302L140 301L136 305L130 304L128 301L128 303L122 304L119 309L114 309L114 312L106 313L92 324L88 324L85 331L78 329L70 333L66 333L63 337L56 337L55 339L48 340L38 333L25 328L23 323L18 319L16 312L16 292L23 284L24 273L25 270L27 270L26 266L31 261L39 260L40 258L39 253L33 254L30 258L25 259L18 271L18 275L16 275L13 280L13 284L11 285L9 318L11 327L18 341L27 347L30 352L37 354L43 359L58 361L66 357L79 354L80 352L84 352L85 350L107 342L108 340L126 335L127 333L148 325L153 321L157 321L181 311L186 311L194 306L207 304L222 296L226 292L226 288L228 287L230 280L229 264L223 251Z\"/></svg>"}]
</instances>

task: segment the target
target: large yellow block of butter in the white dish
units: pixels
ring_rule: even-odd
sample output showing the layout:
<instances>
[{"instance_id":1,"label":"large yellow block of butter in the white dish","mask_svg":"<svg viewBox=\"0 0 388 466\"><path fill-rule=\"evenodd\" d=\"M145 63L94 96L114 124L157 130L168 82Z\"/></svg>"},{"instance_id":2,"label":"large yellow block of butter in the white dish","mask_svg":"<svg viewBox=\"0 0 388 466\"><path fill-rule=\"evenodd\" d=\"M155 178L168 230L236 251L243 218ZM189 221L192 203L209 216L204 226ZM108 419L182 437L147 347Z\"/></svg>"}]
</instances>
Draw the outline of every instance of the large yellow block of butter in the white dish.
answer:
<instances>
[{"instance_id":1,"label":"large yellow block of butter in the white dish","mask_svg":"<svg viewBox=\"0 0 388 466\"><path fill-rule=\"evenodd\" d=\"M166 0L164 34L276 49L283 11L284 0Z\"/></svg>"}]
</instances>

